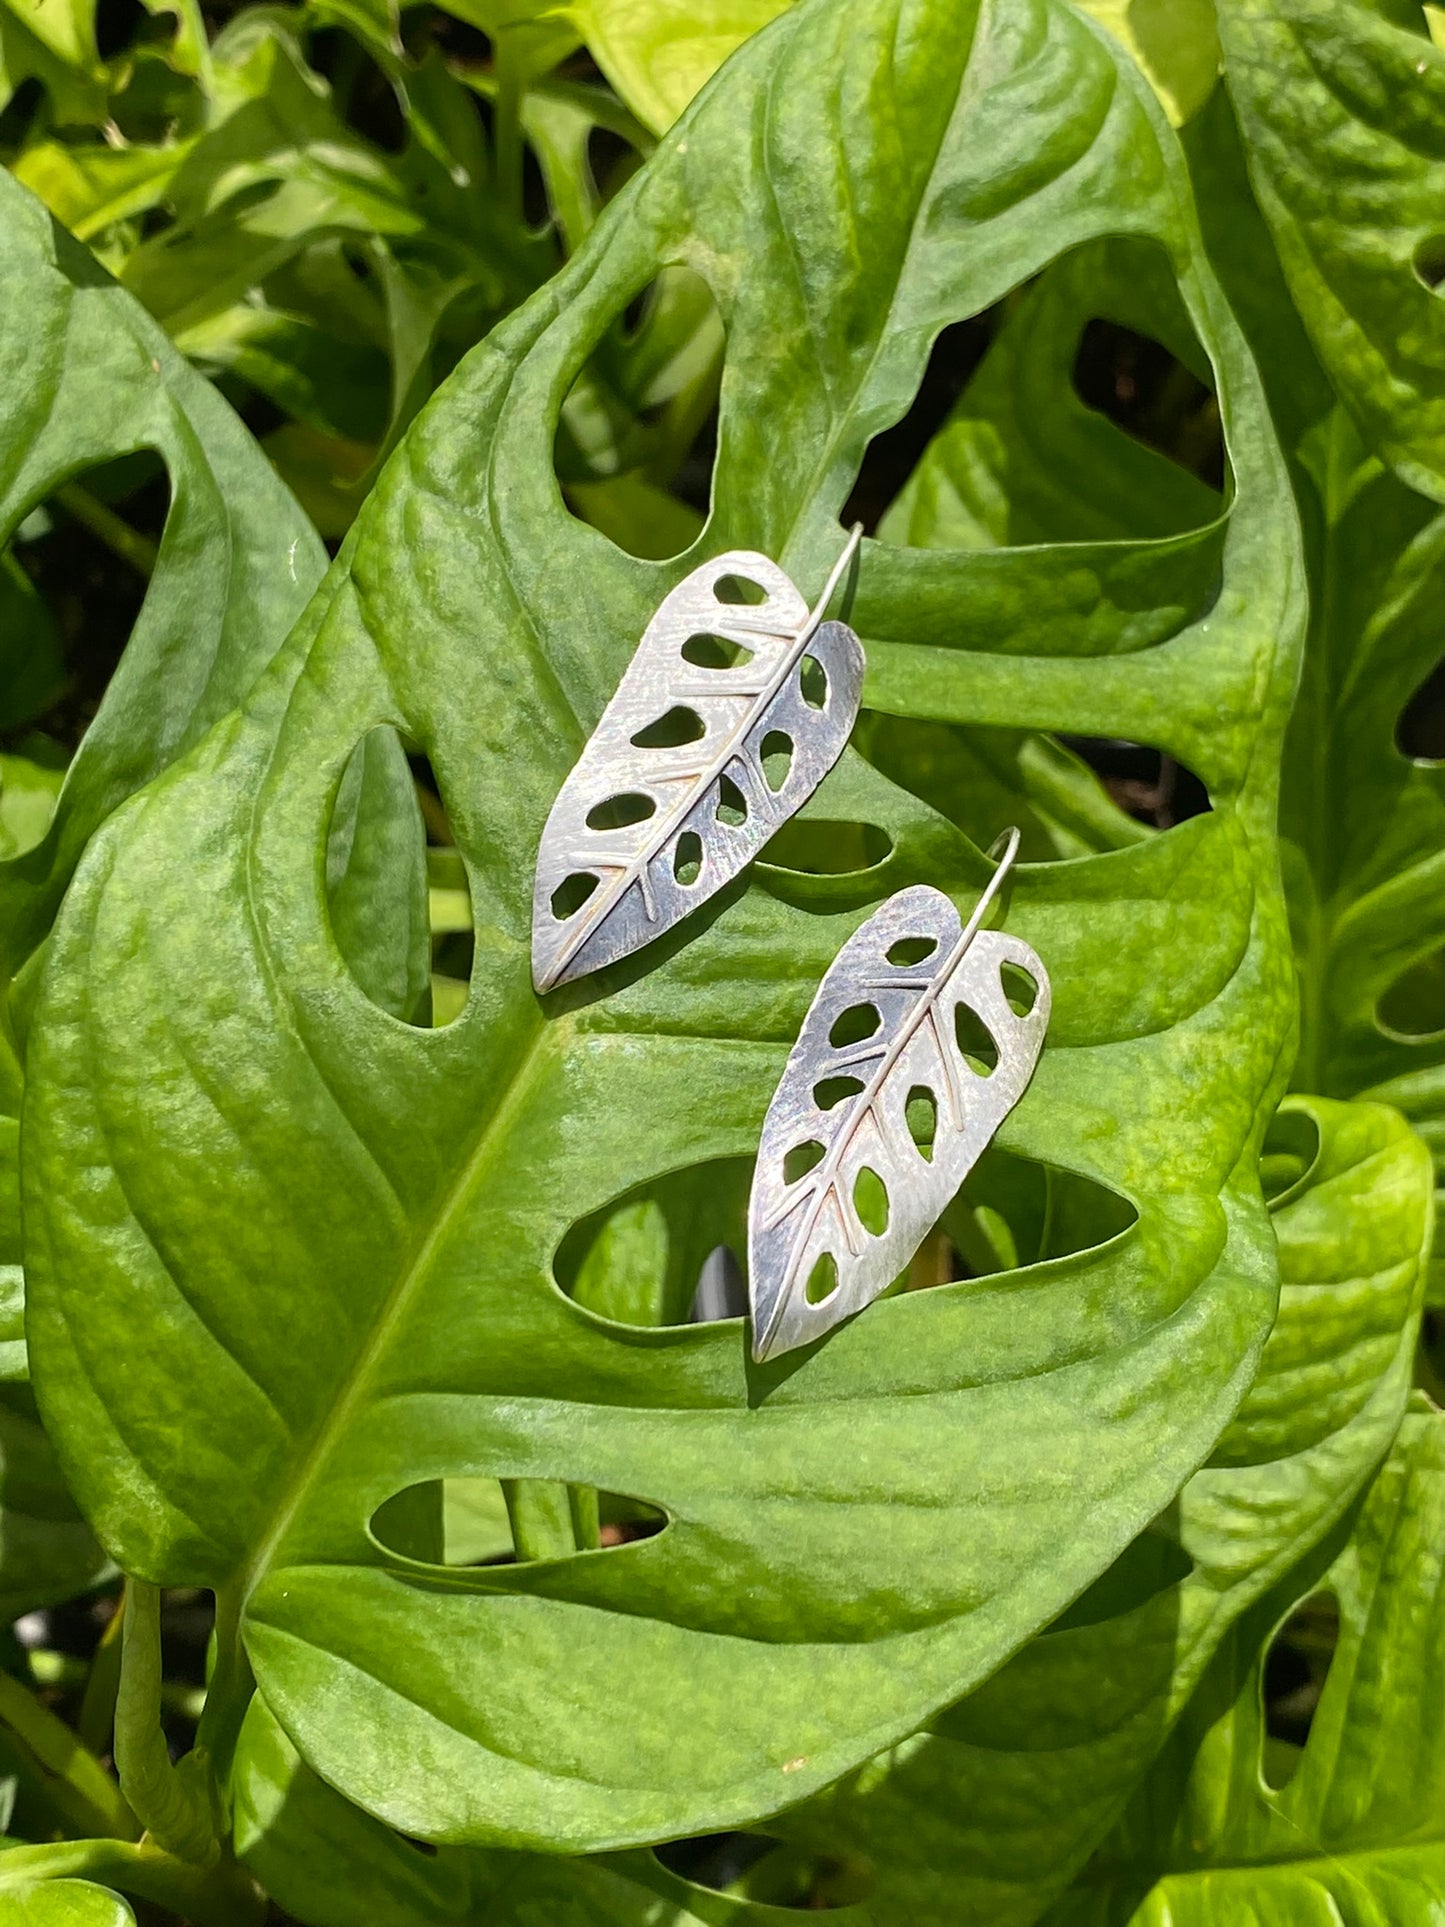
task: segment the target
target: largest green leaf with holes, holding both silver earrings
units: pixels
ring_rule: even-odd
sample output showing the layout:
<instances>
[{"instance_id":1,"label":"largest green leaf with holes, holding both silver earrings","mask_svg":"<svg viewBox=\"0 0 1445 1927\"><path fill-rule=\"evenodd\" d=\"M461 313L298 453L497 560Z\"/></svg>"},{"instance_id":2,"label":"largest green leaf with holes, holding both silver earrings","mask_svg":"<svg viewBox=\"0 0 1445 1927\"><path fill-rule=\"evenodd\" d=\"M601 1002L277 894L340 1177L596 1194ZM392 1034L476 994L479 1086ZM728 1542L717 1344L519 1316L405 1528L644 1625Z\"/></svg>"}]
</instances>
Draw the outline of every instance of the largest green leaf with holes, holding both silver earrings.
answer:
<instances>
[{"instance_id":1,"label":"largest green leaf with holes, holding both silver earrings","mask_svg":"<svg viewBox=\"0 0 1445 1927\"><path fill-rule=\"evenodd\" d=\"M759 863L653 967L539 1002L551 800L661 597L726 547L815 594L940 330L1114 231L1121 195L1212 360L1229 513L1162 541L865 545L850 620L875 709L1121 732L1210 786L1177 831L1023 867L1006 908L1054 1014L1000 1145L1137 1222L763 1368L736 1320L609 1322L559 1289L568 1227L748 1158L869 908L925 881L967 911L988 863L846 757L792 829L861 813L873 867ZM674 565L574 522L549 461L568 383L665 262L728 333L713 511ZM1275 1310L1256 1152L1293 1037L1274 796L1300 615L1175 139L1052 0L788 12L462 362L252 698L92 844L27 1089L27 1330L67 1472L127 1569L220 1592L328 1781L435 1840L767 1813L994 1673L1169 1505ZM439 1031L376 1008L328 929L331 800L380 725L426 748L470 875L470 998ZM667 1522L457 1569L426 1557L443 1478ZM405 1534L378 1518L414 1488Z\"/></svg>"}]
</instances>

